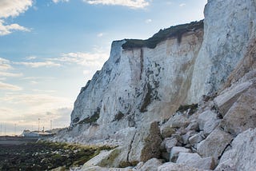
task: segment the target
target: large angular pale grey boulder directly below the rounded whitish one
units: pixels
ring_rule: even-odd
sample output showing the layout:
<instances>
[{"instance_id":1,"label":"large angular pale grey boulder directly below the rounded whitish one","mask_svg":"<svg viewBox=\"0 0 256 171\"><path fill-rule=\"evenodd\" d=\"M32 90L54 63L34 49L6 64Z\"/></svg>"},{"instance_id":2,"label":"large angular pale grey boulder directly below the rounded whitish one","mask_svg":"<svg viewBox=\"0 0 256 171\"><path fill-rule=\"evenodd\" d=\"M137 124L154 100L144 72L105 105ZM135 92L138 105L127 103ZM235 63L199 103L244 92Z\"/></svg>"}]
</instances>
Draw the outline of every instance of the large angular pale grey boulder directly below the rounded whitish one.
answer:
<instances>
[{"instance_id":1,"label":"large angular pale grey boulder directly below the rounded whitish one","mask_svg":"<svg viewBox=\"0 0 256 171\"><path fill-rule=\"evenodd\" d=\"M230 144L232 136L220 129L214 129L204 141L198 144L197 152L202 157L214 157L214 162L218 163L218 157L221 157L226 146Z\"/></svg>"}]
</instances>

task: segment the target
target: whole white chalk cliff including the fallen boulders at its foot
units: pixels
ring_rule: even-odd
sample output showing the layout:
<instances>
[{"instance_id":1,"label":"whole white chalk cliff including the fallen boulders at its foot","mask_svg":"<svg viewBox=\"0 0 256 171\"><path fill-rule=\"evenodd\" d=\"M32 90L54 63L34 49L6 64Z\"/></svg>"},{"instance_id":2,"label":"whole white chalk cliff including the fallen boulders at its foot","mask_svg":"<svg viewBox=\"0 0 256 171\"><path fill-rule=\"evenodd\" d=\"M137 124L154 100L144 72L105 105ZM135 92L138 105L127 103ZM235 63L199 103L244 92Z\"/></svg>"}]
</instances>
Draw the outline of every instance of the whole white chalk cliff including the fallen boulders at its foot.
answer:
<instances>
[{"instance_id":1,"label":"whole white chalk cliff including the fallen boulders at its foot","mask_svg":"<svg viewBox=\"0 0 256 171\"><path fill-rule=\"evenodd\" d=\"M98 161L101 167L157 157L170 162L153 160L156 170L253 170L256 1L208 0L204 14L203 22L146 41L113 42L74 103L70 129L56 140L120 145L107 154L115 154L113 165ZM243 145L243 137L250 142Z\"/></svg>"}]
</instances>

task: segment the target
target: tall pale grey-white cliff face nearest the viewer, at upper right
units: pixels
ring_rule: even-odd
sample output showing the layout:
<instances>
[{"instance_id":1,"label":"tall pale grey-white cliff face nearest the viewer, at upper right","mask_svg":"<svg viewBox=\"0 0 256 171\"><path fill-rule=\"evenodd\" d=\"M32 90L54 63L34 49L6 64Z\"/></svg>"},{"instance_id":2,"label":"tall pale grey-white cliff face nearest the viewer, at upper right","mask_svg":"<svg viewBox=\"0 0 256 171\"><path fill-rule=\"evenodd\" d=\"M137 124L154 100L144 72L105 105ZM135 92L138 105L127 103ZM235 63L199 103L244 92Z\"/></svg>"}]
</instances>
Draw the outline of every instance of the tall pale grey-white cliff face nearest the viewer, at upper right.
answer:
<instances>
[{"instance_id":1,"label":"tall pale grey-white cliff face nearest the viewer, at upper right","mask_svg":"<svg viewBox=\"0 0 256 171\"><path fill-rule=\"evenodd\" d=\"M205 34L194 65L191 102L222 87L255 34L253 0L209 0L204 13Z\"/></svg>"}]
</instances>

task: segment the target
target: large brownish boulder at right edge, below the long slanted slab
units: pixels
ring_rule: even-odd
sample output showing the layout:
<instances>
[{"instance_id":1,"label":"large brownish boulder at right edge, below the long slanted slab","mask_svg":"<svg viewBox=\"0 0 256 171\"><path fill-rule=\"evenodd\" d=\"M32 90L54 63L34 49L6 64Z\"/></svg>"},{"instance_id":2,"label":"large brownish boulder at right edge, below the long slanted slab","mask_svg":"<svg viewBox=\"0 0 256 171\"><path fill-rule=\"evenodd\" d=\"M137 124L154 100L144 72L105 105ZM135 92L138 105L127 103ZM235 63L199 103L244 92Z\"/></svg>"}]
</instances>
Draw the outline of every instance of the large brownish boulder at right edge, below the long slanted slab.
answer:
<instances>
[{"instance_id":1,"label":"large brownish boulder at right edge, below the long slanted slab","mask_svg":"<svg viewBox=\"0 0 256 171\"><path fill-rule=\"evenodd\" d=\"M256 85L243 92L221 122L221 127L234 136L256 128Z\"/></svg>"}]
</instances>

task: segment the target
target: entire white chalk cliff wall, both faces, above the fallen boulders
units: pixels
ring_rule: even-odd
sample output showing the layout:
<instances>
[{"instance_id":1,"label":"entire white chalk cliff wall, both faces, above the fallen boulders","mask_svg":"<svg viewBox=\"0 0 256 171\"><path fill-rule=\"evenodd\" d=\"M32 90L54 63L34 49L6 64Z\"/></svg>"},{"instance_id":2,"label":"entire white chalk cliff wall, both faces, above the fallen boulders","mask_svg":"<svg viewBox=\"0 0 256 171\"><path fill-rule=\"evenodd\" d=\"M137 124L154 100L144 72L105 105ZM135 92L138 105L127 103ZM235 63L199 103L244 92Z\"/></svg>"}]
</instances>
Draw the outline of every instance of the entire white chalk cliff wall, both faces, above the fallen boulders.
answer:
<instances>
[{"instance_id":1,"label":"entire white chalk cliff wall, both faces, above the fallen boulders","mask_svg":"<svg viewBox=\"0 0 256 171\"><path fill-rule=\"evenodd\" d=\"M217 93L244 66L254 42L255 12L254 0L209 0L204 28L191 23L171 27L169 35L160 31L162 41L156 35L146 42L113 42L110 58L74 103L70 130L59 138L122 143L139 125L164 121L180 105Z\"/></svg>"}]
</instances>

